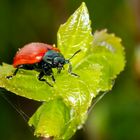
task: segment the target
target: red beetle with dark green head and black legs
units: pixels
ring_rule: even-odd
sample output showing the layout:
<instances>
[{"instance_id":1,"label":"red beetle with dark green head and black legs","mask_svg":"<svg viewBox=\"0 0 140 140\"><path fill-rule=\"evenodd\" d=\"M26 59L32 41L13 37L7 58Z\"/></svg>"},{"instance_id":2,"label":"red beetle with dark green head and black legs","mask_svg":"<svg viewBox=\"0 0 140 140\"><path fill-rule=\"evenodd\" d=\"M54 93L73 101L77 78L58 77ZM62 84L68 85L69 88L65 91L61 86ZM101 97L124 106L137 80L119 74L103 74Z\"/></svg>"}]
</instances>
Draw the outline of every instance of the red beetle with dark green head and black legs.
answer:
<instances>
[{"instance_id":1,"label":"red beetle with dark green head and black legs","mask_svg":"<svg viewBox=\"0 0 140 140\"><path fill-rule=\"evenodd\" d=\"M75 56L80 50L76 51ZM73 58L73 56L71 58ZM38 80L45 81L48 85L52 86L43 78L44 75L53 76L52 68L57 68L58 73L61 72L64 64L69 64L68 72L72 75L78 76L72 73L72 66L70 59L65 59L60 50L52 45L45 43L30 43L21 48L15 55L13 66L16 68L15 72L7 78L12 78L16 75L19 69L36 70L39 71Z\"/></svg>"}]
</instances>

